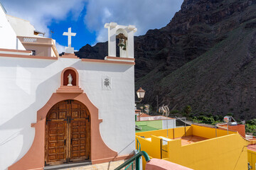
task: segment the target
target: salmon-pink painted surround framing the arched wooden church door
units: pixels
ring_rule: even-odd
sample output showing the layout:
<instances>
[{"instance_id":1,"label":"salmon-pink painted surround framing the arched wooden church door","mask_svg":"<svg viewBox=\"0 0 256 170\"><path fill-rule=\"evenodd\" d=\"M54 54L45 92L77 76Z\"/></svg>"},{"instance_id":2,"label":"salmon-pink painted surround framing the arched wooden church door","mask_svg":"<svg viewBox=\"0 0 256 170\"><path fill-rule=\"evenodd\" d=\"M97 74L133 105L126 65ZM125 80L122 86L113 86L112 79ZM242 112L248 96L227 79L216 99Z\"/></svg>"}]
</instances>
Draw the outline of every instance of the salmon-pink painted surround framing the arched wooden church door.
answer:
<instances>
[{"instance_id":1,"label":"salmon-pink painted surround framing the arched wooden church door","mask_svg":"<svg viewBox=\"0 0 256 170\"><path fill-rule=\"evenodd\" d=\"M68 68L67 68L68 69ZM98 109L91 103L85 93L53 93L49 101L37 112L37 121L31 125L35 128L36 134L33 144L28 152L18 162L9 166L9 170L43 169L45 154L45 126L46 115L55 103L64 100L76 100L83 103L89 110L91 116L91 161L92 164L120 160L129 157L117 157L117 152L105 145L100 135L100 123Z\"/></svg>"}]
</instances>

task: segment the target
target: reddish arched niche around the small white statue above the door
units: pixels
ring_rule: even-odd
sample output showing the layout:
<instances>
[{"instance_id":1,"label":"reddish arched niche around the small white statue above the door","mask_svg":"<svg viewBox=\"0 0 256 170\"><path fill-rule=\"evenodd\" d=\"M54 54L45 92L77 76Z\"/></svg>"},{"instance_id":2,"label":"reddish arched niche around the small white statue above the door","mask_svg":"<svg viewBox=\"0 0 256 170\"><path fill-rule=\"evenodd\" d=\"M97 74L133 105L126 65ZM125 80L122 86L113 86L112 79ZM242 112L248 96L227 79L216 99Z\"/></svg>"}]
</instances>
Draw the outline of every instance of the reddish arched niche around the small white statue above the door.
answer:
<instances>
[{"instance_id":1,"label":"reddish arched niche around the small white statue above the door","mask_svg":"<svg viewBox=\"0 0 256 170\"><path fill-rule=\"evenodd\" d=\"M74 69L73 67L68 67L63 69L63 72L61 72L61 86L68 86L68 75L71 74L72 76L72 85L73 86L79 86L78 85L78 71Z\"/></svg>"}]
</instances>

